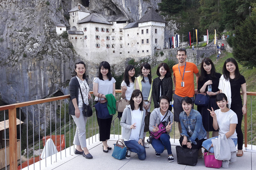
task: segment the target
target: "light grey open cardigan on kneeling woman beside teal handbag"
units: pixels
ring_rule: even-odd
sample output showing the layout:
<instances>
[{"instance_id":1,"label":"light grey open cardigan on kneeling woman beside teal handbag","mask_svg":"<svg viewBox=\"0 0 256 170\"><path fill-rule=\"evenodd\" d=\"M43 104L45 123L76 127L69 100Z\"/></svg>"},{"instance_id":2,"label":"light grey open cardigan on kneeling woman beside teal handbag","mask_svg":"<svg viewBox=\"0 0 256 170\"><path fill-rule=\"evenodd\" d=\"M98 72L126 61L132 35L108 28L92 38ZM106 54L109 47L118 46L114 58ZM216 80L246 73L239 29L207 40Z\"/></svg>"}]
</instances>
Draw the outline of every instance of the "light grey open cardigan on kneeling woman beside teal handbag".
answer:
<instances>
[{"instance_id":1,"label":"light grey open cardigan on kneeling woman beside teal handbag","mask_svg":"<svg viewBox=\"0 0 256 170\"><path fill-rule=\"evenodd\" d=\"M126 108L124 109L122 119L120 121L120 125L122 127L122 139L127 139L129 140L132 129L130 128L132 125L132 109L130 105L127 105ZM143 115L142 115L142 120L141 125L140 125L140 139L143 139L143 133L144 133L144 127L145 127L145 115L146 111L143 108Z\"/></svg>"}]
</instances>

